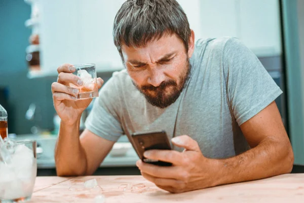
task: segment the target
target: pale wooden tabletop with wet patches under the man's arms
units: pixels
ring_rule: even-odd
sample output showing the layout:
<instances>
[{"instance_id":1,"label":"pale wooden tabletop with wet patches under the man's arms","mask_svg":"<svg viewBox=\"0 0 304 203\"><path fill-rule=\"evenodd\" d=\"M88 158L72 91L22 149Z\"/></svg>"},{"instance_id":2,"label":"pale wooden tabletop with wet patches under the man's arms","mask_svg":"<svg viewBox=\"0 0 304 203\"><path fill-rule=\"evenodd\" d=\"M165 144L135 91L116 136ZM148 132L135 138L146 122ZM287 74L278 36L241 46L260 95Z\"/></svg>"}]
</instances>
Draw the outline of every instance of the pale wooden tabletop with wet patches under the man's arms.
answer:
<instances>
[{"instance_id":1,"label":"pale wooden tabletop with wet patches under the man's arms","mask_svg":"<svg viewBox=\"0 0 304 203\"><path fill-rule=\"evenodd\" d=\"M100 187L86 189L96 179ZM129 185L128 185L129 184ZM171 194L142 176L37 177L30 202L95 202L103 194L108 202L304 202L304 174L223 185Z\"/></svg>"}]
</instances>

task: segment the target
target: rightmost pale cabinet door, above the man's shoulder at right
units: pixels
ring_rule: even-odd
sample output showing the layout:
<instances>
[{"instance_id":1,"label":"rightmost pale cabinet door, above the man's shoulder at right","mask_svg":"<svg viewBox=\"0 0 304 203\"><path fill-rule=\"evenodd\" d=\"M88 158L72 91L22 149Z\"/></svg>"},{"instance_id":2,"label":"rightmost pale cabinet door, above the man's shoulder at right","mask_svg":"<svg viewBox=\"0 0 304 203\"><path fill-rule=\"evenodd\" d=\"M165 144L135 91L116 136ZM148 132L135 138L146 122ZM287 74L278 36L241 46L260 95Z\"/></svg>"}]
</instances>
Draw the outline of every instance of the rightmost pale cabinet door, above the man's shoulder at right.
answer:
<instances>
[{"instance_id":1,"label":"rightmost pale cabinet door, above the man's shoulder at right","mask_svg":"<svg viewBox=\"0 0 304 203\"><path fill-rule=\"evenodd\" d=\"M239 0L239 38L258 56L282 53L278 0Z\"/></svg>"}]
</instances>

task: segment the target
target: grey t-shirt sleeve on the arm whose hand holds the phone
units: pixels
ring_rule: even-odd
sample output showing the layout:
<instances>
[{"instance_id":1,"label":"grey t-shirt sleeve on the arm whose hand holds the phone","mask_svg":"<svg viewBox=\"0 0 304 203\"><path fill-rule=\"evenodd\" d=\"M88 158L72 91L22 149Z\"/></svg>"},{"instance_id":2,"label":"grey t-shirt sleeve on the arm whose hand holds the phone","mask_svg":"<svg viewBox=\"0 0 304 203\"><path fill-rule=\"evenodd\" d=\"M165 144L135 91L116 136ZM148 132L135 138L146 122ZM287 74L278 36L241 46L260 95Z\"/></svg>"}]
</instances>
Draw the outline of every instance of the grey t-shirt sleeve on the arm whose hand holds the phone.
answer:
<instances>
[{"instance_id":1,"label":"grey t-shirt sleeve on the arm whose hand holds the phone","mask_svg":"<svg viewBox=\"0 0 304 203\"><path fill-rule=\"evenodd\" d=\"M282 90L255 54L238 39L229 39L223 52L227 98L239 125L270 105Z\"/></svg>"}]
</instances>

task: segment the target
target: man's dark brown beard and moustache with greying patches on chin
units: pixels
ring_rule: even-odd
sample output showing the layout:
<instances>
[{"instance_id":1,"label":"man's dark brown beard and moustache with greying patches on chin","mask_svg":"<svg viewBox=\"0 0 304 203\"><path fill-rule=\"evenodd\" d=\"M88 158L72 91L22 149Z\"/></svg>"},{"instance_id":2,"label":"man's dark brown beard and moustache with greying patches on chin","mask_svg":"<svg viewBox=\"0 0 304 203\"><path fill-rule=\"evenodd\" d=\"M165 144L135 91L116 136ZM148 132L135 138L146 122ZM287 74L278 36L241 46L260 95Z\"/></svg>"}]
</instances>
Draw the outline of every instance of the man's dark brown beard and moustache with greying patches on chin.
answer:
<instances>
[{"instance_id":1,"label":"man's dark brown beard and moustache with greying patches on chin","mask_svg":"<svg viewBox=\"0 0 304 203\"><path fill-rule=\"evenodd\" d=\"M180 93L184 89L185 84L189 80L190 72L191 64L189 63L189 58L187 57L184 71L179 76L180 83L178 85L176 81L172 79L162 82L158 87L153 85L143 85L139 87L133 81L132 82L139 92L144 95L148 103L155 107L164 109L177 100Z\"/></svg>"}]
</instances>

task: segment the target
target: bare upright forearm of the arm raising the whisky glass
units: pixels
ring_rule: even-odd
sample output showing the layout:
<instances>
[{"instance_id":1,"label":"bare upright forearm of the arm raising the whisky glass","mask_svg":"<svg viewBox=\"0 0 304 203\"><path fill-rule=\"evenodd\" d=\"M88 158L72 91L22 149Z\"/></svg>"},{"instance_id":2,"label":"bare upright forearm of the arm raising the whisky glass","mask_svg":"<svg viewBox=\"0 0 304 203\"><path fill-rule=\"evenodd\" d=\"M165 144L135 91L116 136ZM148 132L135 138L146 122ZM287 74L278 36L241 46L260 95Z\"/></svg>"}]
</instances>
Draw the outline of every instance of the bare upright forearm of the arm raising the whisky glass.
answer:
<instances>
[{"instance_id":1,"label":"bare upright forearm of the arm raising the whisky glass","mask_svg":"<svg viewBox=\"0 0 304 203\"><path fill-rule=\"evenodd\" d=\"M55 148L58 176L79 176L87 171L87 158L79 140L80 119L74 125L60 124Z\"/></svg>"}]
</instances>

